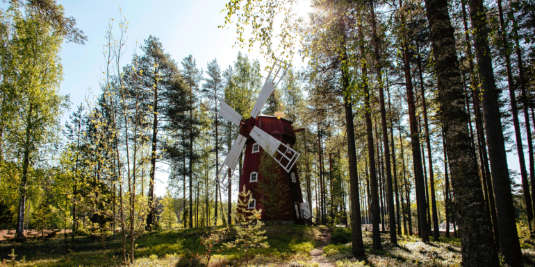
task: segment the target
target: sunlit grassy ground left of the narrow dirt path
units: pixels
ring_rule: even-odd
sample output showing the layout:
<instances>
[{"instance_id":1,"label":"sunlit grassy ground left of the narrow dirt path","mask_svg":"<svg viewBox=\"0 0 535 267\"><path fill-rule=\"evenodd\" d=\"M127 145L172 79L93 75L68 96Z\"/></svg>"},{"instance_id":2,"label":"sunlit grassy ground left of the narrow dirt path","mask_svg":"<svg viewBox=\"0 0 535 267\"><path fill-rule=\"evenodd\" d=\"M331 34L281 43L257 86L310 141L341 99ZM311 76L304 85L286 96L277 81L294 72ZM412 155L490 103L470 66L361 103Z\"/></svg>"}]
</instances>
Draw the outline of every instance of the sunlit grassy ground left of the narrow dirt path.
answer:
<instances>
[{"instance_id":1,"label":"sunlit grassy ground left of the narrow dirt path","mask_svg":"<svg viewBox=\"0 0 535 267\"><path fill-rule=\"evenodd\" d=\"M222 227L218 227L219 230ZM271 261L292 261L306 259L315 246L315 227L304 225L265 226L270 248L254 248L250 255L263 255ZM137 266L174 266L181 258L190 259L192 254L204 254L199 236L206 235L208 228L192 230L167 230L151 232L135 241L135 264ZM232 240L235 232L231 231ZM26 243L0 243L0 260L9 259L11 249L15 248L17 260L26 258L19 266L122 266L122 243L108 237L102 242L90 236L69 236L69 252L64 254L63 235L54 239L40 241L28 239ZM222 250L213 262L220 264L240 264L245 252L236 248Z\"/></svg>"}]
</instances>

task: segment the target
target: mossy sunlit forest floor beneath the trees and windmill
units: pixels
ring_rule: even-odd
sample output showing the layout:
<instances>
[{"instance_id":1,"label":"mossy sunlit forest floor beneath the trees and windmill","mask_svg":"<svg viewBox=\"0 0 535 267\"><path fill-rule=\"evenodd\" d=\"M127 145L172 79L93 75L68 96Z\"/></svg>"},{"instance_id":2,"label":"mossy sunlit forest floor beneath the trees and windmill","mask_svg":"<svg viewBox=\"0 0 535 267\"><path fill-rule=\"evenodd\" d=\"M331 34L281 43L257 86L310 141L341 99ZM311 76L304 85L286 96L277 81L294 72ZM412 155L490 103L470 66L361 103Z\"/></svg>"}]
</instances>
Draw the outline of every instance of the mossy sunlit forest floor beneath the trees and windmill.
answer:
<instances>
[{"instance_id":1,"label":"mossy sunlit forest floor beneath the trees and windmill","mask_svg":"<svg viewBox=\"0 0 535 267\"><path fill-rule=\"evenodd\" d=\"M393 246L388 234L381 234L383 250L373 250L372 233L363 232L367 257L354 259L347 228L282 225L263 229L270 248L250 250L248 263L241 250L221 250L213 255L211 266L461 266L459 239L454 238L425 244L417 236L398 236L399 245ZM188 250L204 254L199 236L206 236L207 231L200 228L144 234L135 241L135 266L197 266L190 261ZM234 234L231 231L229 240ZM8 255L15 249L20 262L16 266L123 266L121 248L120 236L69 236L65 254L65 239L59 234L45 240L33 237L26 243L0 241L0 260L10 259ZM525 266L535 266L535 250L525 248L522 252Z\"/></svg>"}]
</instances>

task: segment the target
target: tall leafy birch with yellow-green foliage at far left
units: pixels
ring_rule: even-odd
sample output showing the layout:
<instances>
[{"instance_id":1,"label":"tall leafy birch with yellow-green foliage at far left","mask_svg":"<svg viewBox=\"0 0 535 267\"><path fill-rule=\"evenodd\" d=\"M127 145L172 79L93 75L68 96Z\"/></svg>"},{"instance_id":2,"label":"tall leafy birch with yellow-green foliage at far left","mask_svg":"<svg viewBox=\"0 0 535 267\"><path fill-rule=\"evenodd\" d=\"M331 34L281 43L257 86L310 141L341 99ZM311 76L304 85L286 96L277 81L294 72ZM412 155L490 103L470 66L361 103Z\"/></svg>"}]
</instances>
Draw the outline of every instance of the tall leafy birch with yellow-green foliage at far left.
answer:
<instances>
[{"instance_id":1,"label":"tall leafy birch with yellow-green foliage at far left","mask_svg":"<svg viewBox=\"0 0 535 267\"><path fill-rule=\"evenodd\" d=\"M18 10L11 10L15 33L10 40L8 65L4 69L6 85L16 92L10 99L17 117L6 128L6 139L14 144L13 156L19 159L19 209L17 239L24 239L24 211L28 176L40 150L56 141L59 119L67 107L67 96L58 94L63 75L60 64L61 33L53 31L33 12L22 17Z\"/></svg>"}]
</instances>

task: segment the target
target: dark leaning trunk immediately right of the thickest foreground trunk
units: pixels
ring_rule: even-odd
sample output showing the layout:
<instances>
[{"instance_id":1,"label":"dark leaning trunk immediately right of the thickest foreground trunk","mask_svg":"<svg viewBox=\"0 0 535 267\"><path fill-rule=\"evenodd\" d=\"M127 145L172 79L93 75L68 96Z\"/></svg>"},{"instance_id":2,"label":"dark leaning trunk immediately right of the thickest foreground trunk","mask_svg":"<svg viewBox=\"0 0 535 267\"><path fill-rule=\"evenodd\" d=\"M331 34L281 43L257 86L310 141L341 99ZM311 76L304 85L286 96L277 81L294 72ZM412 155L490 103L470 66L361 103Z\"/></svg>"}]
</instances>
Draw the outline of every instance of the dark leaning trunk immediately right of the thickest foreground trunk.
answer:
<instances>
[{"instance_id":1,"label":"dark leaning trunk immediately right of the thickest foreground trunk","mask_svg":"<svg viewBox=\"0 0 535 267\"><path fill-rule=\"evenodd\" d=\"M520 251L518 232L516 231L511 181L509 180L502 121L500 120L499 95L494 80L491 49L488 46L486 11L482 1L470 0L469 3L472 29L477 33L474 39L474 47L482 86L483 118L486 126L488 156L493 170L492 179L496 200L497 223L500 228L500 252L502 252L504 260L509 266L522 266L522 252ZM452 154L448 154L452 158ZM463 232L464 236L464 231L461 230L461 232Z\"/></svg>"}]
</instances>

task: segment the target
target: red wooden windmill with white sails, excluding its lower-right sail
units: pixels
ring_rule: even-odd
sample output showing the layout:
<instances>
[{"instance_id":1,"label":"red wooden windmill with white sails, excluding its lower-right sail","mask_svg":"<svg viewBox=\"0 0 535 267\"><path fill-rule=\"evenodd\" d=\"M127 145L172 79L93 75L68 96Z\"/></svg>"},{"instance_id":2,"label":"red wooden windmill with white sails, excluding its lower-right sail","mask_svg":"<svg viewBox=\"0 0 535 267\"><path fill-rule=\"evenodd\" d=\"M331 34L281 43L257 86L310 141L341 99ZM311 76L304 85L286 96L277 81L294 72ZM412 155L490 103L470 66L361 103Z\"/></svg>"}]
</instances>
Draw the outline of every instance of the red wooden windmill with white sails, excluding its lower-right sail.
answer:
<instances>
[{"instance_id":1,"label":"red wooden windmill with white sails, excluding its lower-right sail","mask_svg":"<svg viewBox=\"0 0 535 267\"><path fill-rule=\"evenodd\" d=\"M284 74L286 74L287 69L288 64L276 60L268 78L265 79L260 94L258 94L258 99L256 99L249 119L242 119L240 114L227 103L221 103L219 115L236 124L236 126L240 126L240 133L223 165L217 171L216 180L222 184L222 189L228 188L230 177L234 169L236 169L240 153L243 147L247 145L239 188L241 190L245 185L247 190L252 191L253 201L249 203L249 209L263 208L264 196L255 189L258 188L258 182L262 181L262 176L258 173L258 169L261 150L264 150L279 163L280 173L283 173L279 178L279 182L286 184L285 188L289 190L286 193L288 197L285 200L285 205L281 207L283 216L280 216L279 220L292 222L311 218L308 203L303 203L297 167L295 166L299 153L292 149L295 144L295 132L303 129L294 130L292 127L293 122L286 119L259 115L268 97L277 87Z\"/></svg>"}]
</instances>

